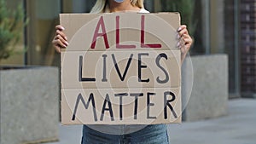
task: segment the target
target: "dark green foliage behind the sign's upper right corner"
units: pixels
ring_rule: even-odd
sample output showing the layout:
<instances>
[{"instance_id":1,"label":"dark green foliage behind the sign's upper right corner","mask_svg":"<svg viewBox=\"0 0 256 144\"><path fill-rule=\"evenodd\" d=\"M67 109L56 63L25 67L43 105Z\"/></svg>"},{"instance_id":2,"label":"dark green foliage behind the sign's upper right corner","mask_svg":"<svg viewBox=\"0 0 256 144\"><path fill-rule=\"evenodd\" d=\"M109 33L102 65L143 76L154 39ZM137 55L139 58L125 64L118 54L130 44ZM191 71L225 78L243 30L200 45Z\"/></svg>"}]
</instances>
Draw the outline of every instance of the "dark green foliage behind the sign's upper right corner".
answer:
<instances>
[{"instance_id":1,"label":"dark green foliage behind the sign's upper right corner","mask_svg":"<svg viewBox=\"0 0 256 144\"><path fill-rule=\"evenodd\" d=\"M179 12L182 24L188 26L190 35L193 37L197 21L194 17L195 0L161 0L165 11Z\"/></svg>"}]
</instances>

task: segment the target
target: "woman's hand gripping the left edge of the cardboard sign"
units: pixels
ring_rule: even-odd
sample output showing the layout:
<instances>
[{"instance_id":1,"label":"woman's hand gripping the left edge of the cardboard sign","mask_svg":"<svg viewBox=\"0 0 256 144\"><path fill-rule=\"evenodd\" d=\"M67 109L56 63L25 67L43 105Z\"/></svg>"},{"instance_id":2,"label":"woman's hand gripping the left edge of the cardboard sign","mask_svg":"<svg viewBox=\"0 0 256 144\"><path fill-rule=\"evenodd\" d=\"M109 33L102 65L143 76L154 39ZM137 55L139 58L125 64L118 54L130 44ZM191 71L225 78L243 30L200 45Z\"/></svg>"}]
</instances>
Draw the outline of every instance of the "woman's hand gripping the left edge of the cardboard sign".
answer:
<instances>
[{"instance_id":1,"label":"woman's hand gripping the left edge of the cardboard sign","mask_svg":"<svg viewBox=\"0 0 256 144\"><path fill-rule=\"evenodd\" d=\"M61 25L55 26L55 37L52 41L53 46L55 47L55 50L59 53L61 53L61 48L67 48L67 37L65 33L63 32L65 28Z\"/></svg>"}]
</instances>

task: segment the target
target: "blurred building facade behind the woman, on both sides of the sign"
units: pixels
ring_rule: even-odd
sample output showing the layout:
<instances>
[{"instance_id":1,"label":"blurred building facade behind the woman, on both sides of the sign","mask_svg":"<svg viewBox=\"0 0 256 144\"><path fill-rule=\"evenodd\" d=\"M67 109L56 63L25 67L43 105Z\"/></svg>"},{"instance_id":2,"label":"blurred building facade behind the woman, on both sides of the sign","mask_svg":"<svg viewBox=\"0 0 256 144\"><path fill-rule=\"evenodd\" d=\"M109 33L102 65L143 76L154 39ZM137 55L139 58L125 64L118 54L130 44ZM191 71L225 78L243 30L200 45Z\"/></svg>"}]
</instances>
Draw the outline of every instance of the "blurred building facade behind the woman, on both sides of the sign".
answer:
<instances>
[{"instance_id":1,"label":"blurred building facade behind the woman, on both sides of the sign","mask_svg":"<svg viewBox=\"0 0 256 144\"><path fill-rule=\"evenodd\" d=\"M172 0L145 0L151 12L169 11ZM191 0L193 1L193 0ZM195 1L195 0L194 0ZM30 19L24 32L24 55L3 64L58 66L52 48L60 13L87 13L96 0L8 0L10 9L22 2ZM256 94L256 0L196 0L195 45L192 55L229 55L230 97Z\"/></svg>"}]
</instances>

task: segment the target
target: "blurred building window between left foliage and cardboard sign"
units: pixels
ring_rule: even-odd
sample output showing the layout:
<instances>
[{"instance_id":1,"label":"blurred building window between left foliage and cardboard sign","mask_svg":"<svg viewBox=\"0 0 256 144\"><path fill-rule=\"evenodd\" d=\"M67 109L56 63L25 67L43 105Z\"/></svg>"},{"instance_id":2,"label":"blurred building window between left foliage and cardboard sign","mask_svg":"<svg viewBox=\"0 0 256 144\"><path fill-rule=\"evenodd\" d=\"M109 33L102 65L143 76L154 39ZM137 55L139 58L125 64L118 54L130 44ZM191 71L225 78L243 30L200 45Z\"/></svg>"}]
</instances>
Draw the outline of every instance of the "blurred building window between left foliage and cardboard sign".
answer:
<instances>
[{"instance_id":1,"label":"blurred building window between left foliage and cardboard sign","mask_svg":"<svg viewBox=\"0 0 256 144\"><path fill-rule=\"evenodd\" d=\"M52 48L55 25L59 23L60 0L26 0L29 25L26 28L26 64L57 66L58 57Z\"/></svg>"}]
</instances>

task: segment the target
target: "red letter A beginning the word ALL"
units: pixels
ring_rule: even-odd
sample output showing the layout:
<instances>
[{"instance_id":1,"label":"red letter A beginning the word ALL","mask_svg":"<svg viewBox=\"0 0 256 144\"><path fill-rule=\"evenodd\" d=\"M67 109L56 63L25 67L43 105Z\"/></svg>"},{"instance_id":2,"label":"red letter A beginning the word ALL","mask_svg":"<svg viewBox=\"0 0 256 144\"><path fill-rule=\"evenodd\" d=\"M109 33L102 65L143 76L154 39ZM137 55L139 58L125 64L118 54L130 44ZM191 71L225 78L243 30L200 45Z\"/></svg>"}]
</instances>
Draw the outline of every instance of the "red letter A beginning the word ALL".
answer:
<instances>
[{"instance_id":1,"label":"red letter A beginning the word ALL","mask_svg":"<svg viewBox=\"0 0 256 144\"><path fill-rule=\"evenodd\" d=\"M100 26L102 27L102 33L99 32ZM103 17L100 18L100 20L99 20L99 22L96 26L96 30L94 32L92 43L90 45L91 49L95 49L97 37L103 37L104 38L104 43L105 43L106 49L108 49L109 48L108 37L107 37L106 27L105 27L105 24L104 24Z\"/></svg>"}]
</instances>

